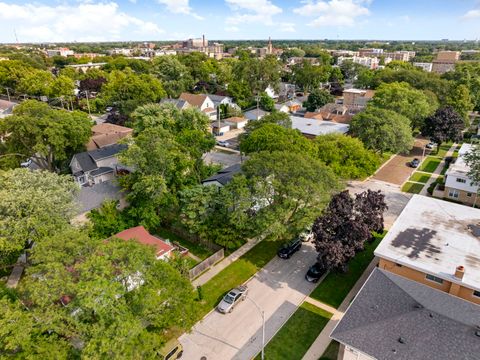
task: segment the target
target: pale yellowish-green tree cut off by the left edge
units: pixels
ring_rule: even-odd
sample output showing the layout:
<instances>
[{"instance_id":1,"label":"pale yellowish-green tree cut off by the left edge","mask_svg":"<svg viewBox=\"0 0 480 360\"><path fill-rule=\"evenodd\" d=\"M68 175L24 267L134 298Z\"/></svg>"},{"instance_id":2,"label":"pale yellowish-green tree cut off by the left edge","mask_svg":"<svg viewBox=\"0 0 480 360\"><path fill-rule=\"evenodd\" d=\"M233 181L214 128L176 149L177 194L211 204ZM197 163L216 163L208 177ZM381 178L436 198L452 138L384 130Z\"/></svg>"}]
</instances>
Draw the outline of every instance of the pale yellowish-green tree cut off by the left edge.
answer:
<instances>
[{"instance_id":1,"label":"pale yellowish-green tree cut off by the left edge","mask_svg":"<svg viewBox=\"0 0 480 360\"><path fill-rule=\"evenodd\" d=\"M67 226L76 213L76 191L70 176L0 170L0 259Z\"/></svg>"}]
</instances>

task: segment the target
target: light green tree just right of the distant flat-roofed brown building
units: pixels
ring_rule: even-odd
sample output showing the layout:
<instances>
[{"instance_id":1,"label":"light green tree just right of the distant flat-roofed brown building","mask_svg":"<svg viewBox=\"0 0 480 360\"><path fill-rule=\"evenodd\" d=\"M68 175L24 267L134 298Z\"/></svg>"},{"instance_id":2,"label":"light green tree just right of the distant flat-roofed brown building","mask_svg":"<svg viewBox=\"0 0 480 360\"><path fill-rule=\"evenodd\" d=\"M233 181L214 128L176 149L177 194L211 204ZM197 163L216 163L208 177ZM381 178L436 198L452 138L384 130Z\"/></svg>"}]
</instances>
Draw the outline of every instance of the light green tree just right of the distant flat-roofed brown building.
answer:
<instances>
[{"instance_id":1,"label":"light green tree just right of the distant flat-roofed brown building","mask_svg":"<svg viewBox=\"0 0 480 360\"><path fill-rule=\"evenodd\" d=\"M432 102L431 97L404 82L380 85L369 105L407 117L414 129L421 128L425 118L432 115L438 107L438 103Z\"/></svg>"}]
</instances>

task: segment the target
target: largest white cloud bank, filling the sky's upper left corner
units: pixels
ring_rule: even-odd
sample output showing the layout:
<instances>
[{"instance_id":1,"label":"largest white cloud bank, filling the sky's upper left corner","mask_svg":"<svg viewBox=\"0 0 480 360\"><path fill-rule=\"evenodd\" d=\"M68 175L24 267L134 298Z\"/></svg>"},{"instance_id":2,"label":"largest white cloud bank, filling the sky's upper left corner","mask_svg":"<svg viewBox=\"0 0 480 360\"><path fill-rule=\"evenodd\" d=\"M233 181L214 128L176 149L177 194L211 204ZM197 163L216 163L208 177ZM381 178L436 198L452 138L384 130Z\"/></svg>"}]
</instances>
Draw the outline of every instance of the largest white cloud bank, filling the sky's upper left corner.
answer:
<instances>
[{"instance_id":1,"label":"largest white cloud bank, filling the sky's upper left corner","mask_svg":"<svg viewBox=\"0 0 480 360\"><path fill-rule=\"evenodd\" d=\"M118 4L8 4L0 2L0 41L13 41L13 28L22 42L106 41L125 34L153 38L163 33L156 24L130 16ZM3 35L3 38L2 38Z\"/></svg>"}]
</instances>

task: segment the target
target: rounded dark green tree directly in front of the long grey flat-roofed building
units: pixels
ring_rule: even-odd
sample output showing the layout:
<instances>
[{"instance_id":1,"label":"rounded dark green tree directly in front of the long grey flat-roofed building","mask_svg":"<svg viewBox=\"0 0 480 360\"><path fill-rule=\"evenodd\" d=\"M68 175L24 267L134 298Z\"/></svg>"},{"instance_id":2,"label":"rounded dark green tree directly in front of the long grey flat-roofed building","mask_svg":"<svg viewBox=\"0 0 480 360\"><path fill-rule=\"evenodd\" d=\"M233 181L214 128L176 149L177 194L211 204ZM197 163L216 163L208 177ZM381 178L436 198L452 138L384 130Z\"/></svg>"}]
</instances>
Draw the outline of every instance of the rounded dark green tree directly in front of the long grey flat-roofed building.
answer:
<instances>
[{"instance_id":1,"label":"rounded dark green tree directly in front of the long grey flat-roofed building","mask_svg":"<svg viewBox=\"0 0 480 360\"><path fill-rule=\"evenodd\" d=\"M261 151L285 151L314 156L316 153L312 141L298 130L286 129L274 123L266 123L241 139L240 150L245 154Z\"/></svg>"}]
</instances>

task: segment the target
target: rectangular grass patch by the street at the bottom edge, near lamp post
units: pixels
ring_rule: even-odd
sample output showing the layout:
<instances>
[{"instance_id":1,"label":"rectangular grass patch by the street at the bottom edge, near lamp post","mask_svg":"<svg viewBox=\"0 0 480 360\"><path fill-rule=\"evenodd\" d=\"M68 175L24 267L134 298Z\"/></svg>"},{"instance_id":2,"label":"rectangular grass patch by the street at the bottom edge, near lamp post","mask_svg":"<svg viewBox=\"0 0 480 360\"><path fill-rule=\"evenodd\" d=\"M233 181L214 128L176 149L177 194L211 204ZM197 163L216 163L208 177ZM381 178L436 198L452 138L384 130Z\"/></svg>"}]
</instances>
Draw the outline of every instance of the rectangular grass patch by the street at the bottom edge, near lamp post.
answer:
<instances>
[{"instance_id":1,"label":"rectangular grass patch by the street at the bottom edge, near lamp post","mask_svg":"<svg viewBox=\"0 0 480 360\"><path fill-rule=\"evenodd\" d=\"M304 302L265 347L265 359L300 360L332 314ZM260 359L260 354L255 358Z\"/></svg>"}]
</instances>

